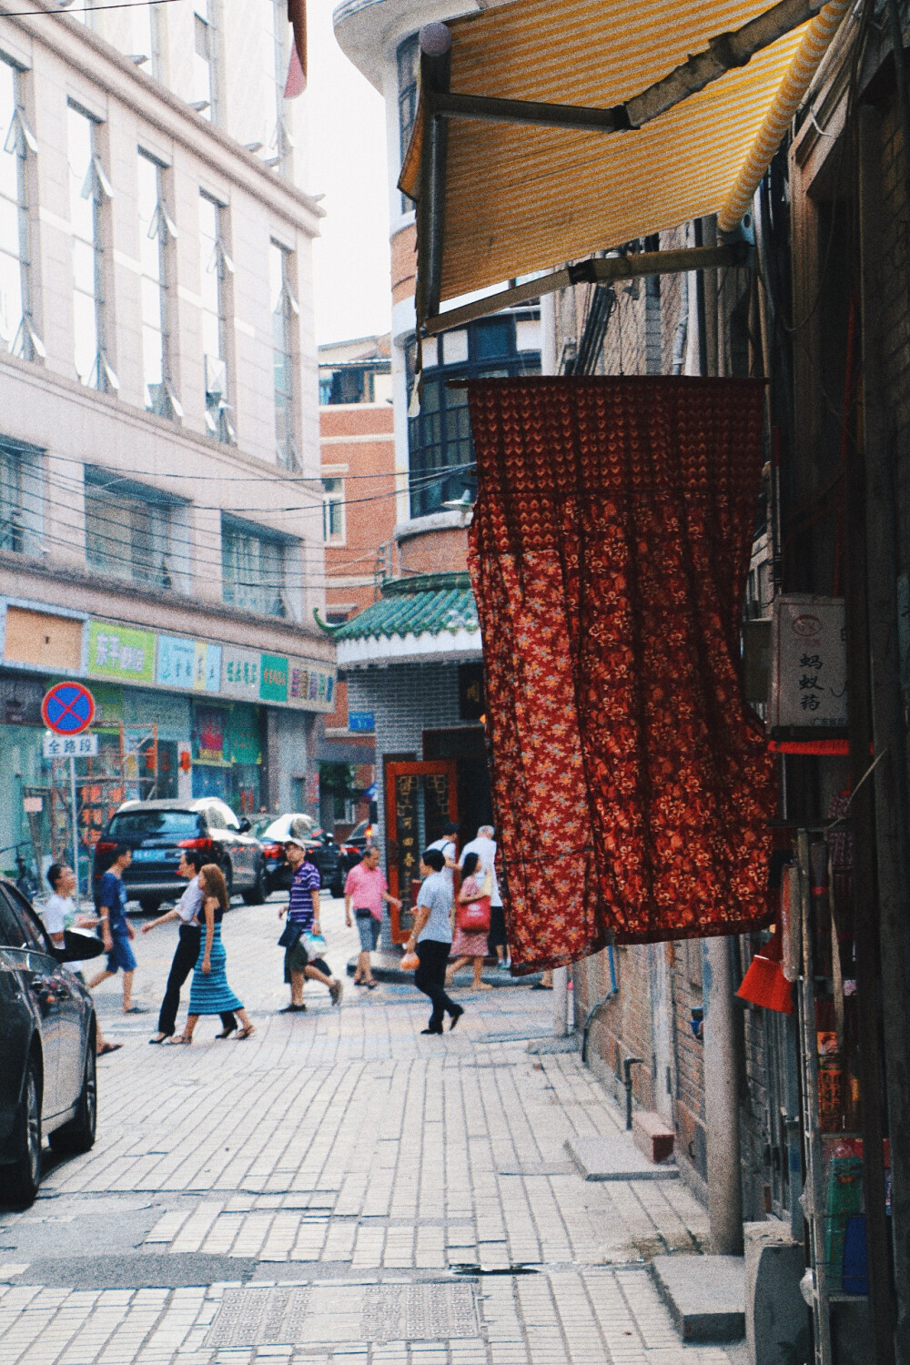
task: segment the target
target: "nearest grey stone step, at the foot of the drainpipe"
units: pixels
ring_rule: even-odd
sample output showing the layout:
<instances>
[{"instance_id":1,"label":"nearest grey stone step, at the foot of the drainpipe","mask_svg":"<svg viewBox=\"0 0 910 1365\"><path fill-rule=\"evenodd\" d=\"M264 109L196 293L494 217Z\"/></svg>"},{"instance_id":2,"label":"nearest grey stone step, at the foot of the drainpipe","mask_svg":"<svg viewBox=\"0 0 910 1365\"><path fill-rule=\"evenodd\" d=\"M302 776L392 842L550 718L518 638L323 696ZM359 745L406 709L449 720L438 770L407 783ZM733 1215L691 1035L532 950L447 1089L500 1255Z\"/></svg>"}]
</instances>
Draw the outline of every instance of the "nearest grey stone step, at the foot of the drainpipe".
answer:
<instances>
[{"instance_id":1,"label":"nearest grey stone step, at the foot of the drainpipe","mask_svg":"<svg viewBox=\"0 0 910 1365\"><path fill-rule=\"evenodd\" d=\"M741 1256L655 1256L649 1269L684 1342L738 1342L746 1335Z\"/></svg>"}]
</instances>

